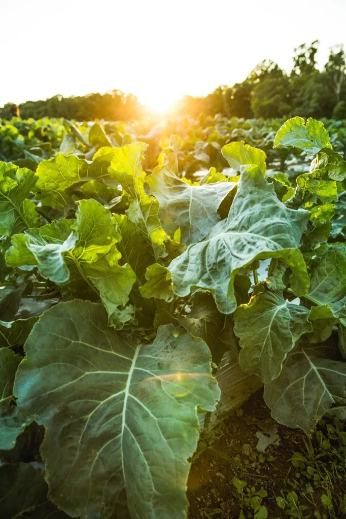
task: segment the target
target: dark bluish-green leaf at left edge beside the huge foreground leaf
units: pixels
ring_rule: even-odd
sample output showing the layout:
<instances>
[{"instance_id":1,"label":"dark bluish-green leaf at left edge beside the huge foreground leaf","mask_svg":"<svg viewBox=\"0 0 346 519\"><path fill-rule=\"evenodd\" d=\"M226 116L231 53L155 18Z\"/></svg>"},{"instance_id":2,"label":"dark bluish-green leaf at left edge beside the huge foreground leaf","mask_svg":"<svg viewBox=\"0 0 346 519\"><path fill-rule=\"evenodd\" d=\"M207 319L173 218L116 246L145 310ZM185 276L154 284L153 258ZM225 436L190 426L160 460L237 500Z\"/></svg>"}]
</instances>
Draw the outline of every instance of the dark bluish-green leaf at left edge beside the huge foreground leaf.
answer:
<instances>
[{"instance_id":1,"label":"dark bluish-green leaf at left edge beside the huge foreground leaf","mask_svg":"<svg viewBox=\"0 0 346 519\"><path fill-rule=\"evenodd\" d=\"M32 421L30 418L25 419L14 405L13 382L21 360L21 356L11 349L0 348L0 449L4 450L10 450L16 445L17 436Z\"/></svg>"}]
</instances>

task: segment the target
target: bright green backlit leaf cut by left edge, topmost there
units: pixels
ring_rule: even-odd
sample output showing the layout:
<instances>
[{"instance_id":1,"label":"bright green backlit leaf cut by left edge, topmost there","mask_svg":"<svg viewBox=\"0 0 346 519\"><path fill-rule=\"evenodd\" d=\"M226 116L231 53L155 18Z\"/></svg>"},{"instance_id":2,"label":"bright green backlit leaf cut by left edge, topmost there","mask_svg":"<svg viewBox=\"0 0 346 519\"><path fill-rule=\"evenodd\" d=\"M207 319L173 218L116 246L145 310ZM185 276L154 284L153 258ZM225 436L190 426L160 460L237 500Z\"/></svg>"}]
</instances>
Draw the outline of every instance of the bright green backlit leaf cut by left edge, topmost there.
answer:
<instances>
[{"instance_id":1,"label":"bright green backlit leaf cut by left edge, topmost there","mask_svg":"<svg viewBox=\"0 0 346 519\"><path fill-rule=\"evenodd\" d=\"M0 162L0 236L10 236L39 225L36 206L26 198L36 181L33 171Z\"/></svg>"}]
</instances>

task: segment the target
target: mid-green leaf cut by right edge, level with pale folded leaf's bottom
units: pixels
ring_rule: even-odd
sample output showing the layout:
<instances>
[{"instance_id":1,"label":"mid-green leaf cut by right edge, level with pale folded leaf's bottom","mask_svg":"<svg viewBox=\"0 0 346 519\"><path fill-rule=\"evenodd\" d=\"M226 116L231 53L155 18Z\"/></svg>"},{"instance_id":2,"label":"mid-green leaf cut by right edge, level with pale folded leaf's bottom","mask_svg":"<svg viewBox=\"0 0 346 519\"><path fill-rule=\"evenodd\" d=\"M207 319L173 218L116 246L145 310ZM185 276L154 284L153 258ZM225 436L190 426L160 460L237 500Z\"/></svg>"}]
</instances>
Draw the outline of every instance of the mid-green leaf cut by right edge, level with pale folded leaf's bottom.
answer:
<instances>
[{"instance_id":1,"label":"mid-green leaf cut by right edge, level with pale folded leaf's bottom","mask_svg":"<svg viewBox=\"0 0 346 519\"><path fill-rule=\"evenodd\" d=\"M346 248L329 247L319 259L311 275L309 300L316 305L326 305L333 315L346 315Z\"/></svg>"}]
</instances>

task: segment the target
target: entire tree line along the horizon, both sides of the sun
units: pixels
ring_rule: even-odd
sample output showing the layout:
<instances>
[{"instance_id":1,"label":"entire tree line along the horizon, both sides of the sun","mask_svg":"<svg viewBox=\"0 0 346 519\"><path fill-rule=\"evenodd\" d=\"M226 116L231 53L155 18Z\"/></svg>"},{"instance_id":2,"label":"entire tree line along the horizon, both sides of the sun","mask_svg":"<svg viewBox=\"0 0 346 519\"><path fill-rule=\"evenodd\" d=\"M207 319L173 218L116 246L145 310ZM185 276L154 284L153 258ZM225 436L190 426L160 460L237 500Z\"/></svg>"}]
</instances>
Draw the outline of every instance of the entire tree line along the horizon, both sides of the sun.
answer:
<instances>
[{"instance_id":1,"label":"entire tree line along the horizon, both sides of the sun","mask_svg":"<svg viewBox=\"0 0 346 519\"><path fill-rule=\"evenodd\" d=\"M346 63L342 45L330 49L327 63L320 71L316 66L319 42L302 44L294 49L293 69L287 74L277 63L264 60L242 83L220 86L205 97L183 97L177 113L198 117L200 114L222 114L228 117L302 117L346 119ZM10 118L65 117L76 120L138 120L145 107L132 94L112 90L46 101L27 101L17 106L7 103L0 115Z\"/></svg>"}]
</instances>

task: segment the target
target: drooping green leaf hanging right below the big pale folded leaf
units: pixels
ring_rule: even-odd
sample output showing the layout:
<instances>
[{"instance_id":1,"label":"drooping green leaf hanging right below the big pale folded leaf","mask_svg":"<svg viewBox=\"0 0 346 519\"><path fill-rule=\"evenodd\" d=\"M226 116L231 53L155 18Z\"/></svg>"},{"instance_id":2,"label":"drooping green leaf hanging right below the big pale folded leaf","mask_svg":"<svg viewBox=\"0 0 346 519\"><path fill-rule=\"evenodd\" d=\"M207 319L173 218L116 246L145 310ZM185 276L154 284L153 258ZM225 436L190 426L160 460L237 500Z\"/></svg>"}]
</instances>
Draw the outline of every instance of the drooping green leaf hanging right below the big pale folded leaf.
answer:
<instances>
[{"instance_id":1,"label":"drooping green leaf hanging right below the big pale folded leaf","mask_svg":"<svg viewBox=\"0 0 346 519\"><path fill-rule=\"evenodd\" d=\"M234 314L234 333L240 338L240 366L264 383L279 376L296 340L312 330L309 310L287 303L281 293L266 290L241 305Z\"/></svg>"}]
</instances>

